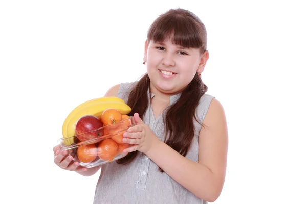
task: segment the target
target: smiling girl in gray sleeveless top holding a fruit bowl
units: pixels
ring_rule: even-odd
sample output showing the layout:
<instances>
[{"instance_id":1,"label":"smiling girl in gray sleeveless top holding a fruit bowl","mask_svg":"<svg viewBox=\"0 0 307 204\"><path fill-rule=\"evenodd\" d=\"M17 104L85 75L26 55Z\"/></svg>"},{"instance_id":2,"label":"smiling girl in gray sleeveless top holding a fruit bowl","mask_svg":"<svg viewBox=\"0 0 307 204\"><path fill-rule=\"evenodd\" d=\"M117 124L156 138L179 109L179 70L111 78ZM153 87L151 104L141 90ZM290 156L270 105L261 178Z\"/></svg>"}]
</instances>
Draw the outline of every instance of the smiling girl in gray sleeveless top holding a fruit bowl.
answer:
<instances>
[{"instance_id":1,"label":"smiling girl in gray sleeveless top holding a fruit bowl","mask_svg":"<svg viewBox=\"0 0 307 204\"><path fill-rule=\"evenodd\" d=\"M137 82L113 86L136 125L124 133L128 155L90 169L54 147L61 168L90 176L101 169L94 203L204 203L222 191L228 133L222 105L200 77L209 58L205 25L193 13L171 9L148 30Z\"/></svg>"}]
</instances>

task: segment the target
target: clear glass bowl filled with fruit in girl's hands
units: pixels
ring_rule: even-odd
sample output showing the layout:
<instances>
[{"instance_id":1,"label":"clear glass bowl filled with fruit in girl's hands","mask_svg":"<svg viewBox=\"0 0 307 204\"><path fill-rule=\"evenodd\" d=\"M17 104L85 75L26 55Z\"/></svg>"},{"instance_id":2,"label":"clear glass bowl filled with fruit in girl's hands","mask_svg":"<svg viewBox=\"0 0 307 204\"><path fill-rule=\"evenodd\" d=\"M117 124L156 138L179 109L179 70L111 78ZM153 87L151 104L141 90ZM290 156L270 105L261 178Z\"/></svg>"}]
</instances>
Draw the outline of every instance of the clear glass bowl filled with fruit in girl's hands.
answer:
<instances>
[{"instance_id":1,"label":"clear glass bowl filled with fruit in girl's hands","mask_svg":"<svg viewBox=\"0 0 307 204\"><path fill-rule=\"evenodd\" d=\"M92 168L109 162L116 161L126 156L125 148L130 144L123 143L124 132L135 125L133 116L114 124L100 127L99 129L60 139L61 150L67 150L73 156L73 161L80 166ZM90 135L90 137L89 137ZM80 141L79 138L91 138ZM67 145L71 143L72 144Z\"/></svg>"}]
</instances>

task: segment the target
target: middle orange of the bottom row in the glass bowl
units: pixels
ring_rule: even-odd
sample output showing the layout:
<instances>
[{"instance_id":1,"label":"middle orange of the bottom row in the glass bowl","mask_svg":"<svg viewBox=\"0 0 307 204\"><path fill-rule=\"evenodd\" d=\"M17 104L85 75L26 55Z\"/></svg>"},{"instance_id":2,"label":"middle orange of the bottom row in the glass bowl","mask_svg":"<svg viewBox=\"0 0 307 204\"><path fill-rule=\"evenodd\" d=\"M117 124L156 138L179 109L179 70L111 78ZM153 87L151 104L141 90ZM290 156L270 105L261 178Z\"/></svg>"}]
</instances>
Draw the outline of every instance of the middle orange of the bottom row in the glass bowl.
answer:
<instances>
[{"instance_id":1,"label":"middle orange of the bottom row in the glass bowl","mask_svg":"<svg viewBox=\"0 0 307 204\"><path fill-rule=\"evenodd\" d=\"M98 157L111 162L118 154L118 144L112 139L102 140L98 145Z\"/></svg>"}]
</instances>

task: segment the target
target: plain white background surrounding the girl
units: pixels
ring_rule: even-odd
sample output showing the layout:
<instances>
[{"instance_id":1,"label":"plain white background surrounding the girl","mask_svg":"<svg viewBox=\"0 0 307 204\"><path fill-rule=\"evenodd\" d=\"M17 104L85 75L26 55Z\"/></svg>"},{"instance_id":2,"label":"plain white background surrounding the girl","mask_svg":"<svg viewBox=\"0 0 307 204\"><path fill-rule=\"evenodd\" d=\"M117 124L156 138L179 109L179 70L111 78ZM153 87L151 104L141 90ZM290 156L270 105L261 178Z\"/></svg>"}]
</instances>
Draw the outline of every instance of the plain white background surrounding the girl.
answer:
<instances>
[{"instance_id":1,"label":"plain white background surrounding the girl","mask_svg":"<svg viewBox=\"0 0 307 204\"><path fill-rule=\"evenodd\" d=\"M53 163L62 122L83 101L145 73L149 25L181 7L206 25L202 79L227 116L227 176L215 203L307 203L302 3L1 1L0 202L93 202L99 173Z\"/></svg>"}]
</instances>

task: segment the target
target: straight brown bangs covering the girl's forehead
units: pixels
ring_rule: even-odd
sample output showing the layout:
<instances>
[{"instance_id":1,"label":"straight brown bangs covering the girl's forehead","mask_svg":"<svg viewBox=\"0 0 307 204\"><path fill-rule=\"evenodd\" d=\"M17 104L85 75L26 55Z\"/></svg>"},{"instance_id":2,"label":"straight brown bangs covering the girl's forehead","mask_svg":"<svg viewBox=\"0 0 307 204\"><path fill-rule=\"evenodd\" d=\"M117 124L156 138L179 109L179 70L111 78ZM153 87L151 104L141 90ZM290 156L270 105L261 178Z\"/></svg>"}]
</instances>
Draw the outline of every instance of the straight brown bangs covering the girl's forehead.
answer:
<instances>
[{"instance_id":1,"label":"straight brown bangs covering the girl's forehead","mask_svg":"<svg viewBox=\"0 0 307 204\"><path fill-rule=\"evenodd\" d=\"M186 48L207 48L205 25L190 16L160 16L149 28L147 39L153 42L170 40L173 44Z\"/></svg>"}]
</instances>

